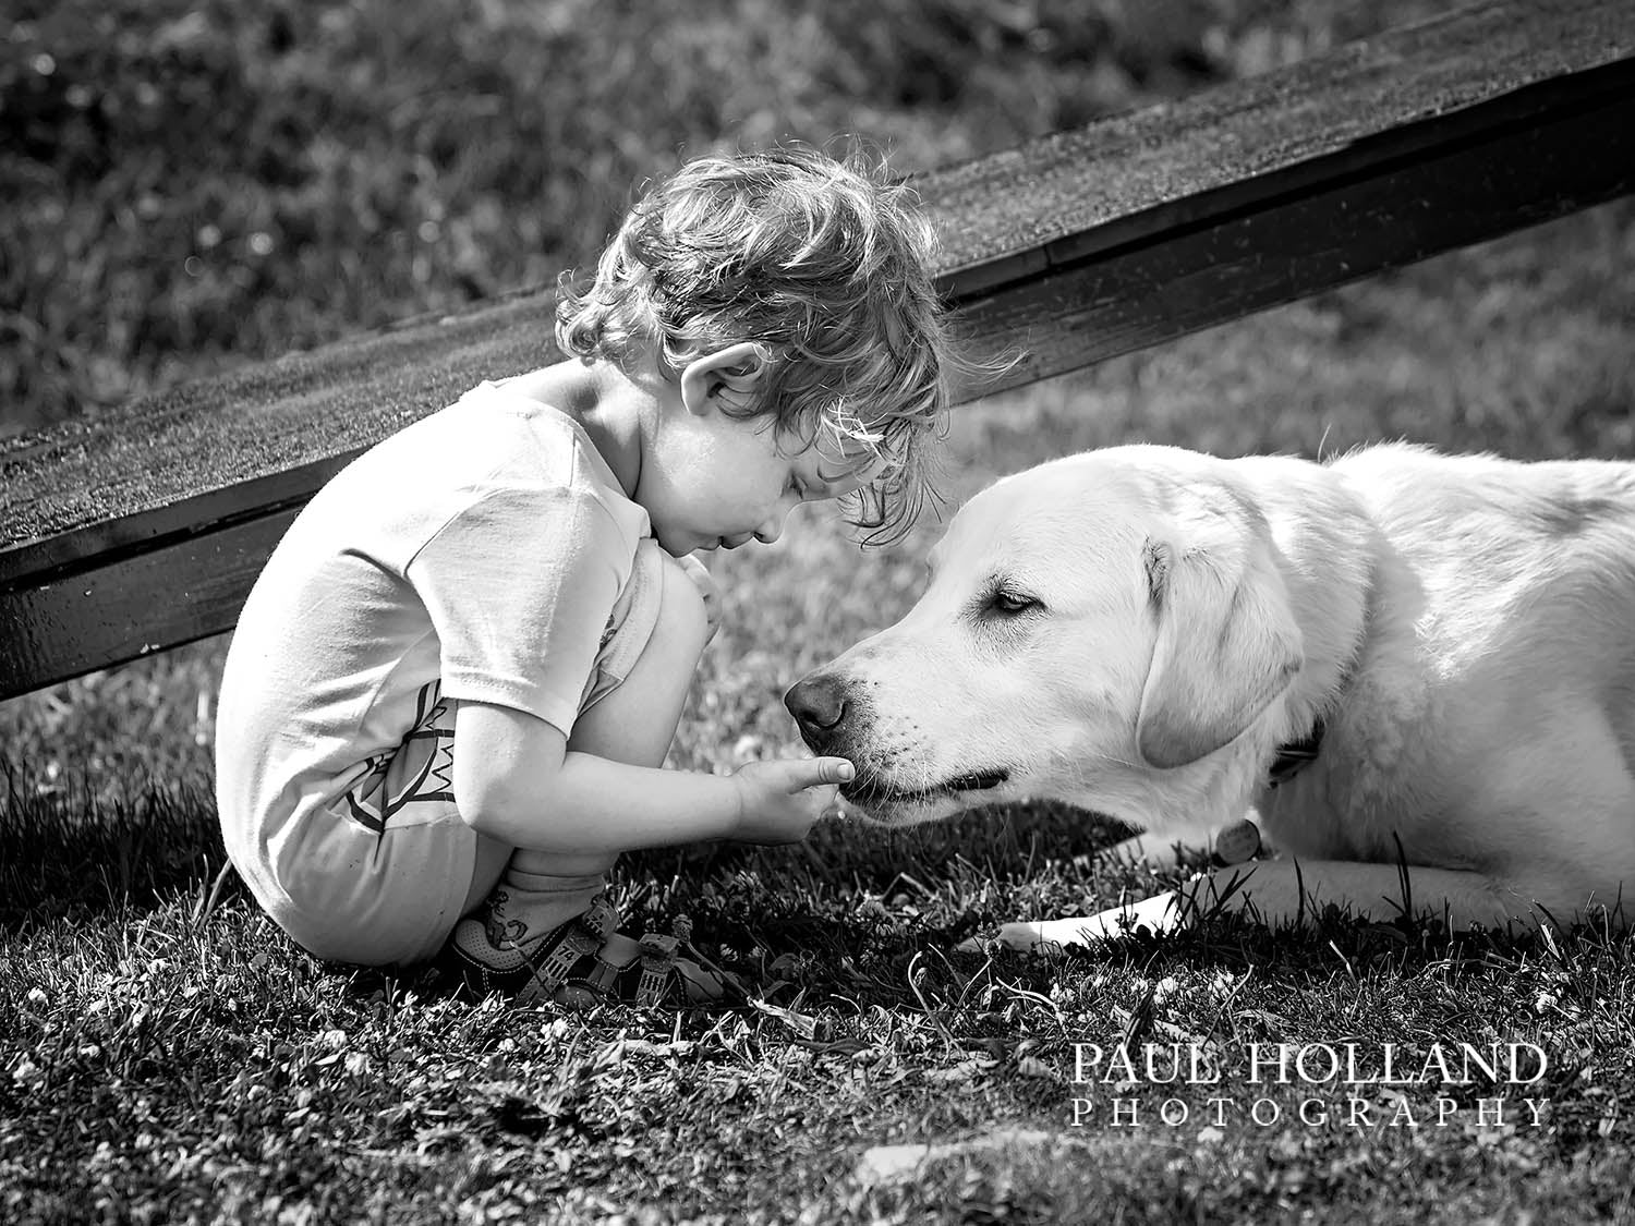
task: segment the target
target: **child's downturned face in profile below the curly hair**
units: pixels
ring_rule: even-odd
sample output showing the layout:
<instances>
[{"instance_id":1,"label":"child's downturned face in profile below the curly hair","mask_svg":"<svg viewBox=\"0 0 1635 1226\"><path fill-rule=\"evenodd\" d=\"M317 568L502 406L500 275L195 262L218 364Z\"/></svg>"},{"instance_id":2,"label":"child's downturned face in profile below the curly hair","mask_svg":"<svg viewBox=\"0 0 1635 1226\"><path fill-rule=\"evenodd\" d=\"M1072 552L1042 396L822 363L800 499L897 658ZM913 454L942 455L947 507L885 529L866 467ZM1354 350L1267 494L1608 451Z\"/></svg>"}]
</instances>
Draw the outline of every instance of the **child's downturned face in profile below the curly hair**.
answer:
<instances>
[{"instance_id":1,"label":"child's downturned face in profile below the curly hair","mask_svg":"<svg viewBox=\"0 0 1635 1226\"><path fill-rule=\"evenodd\" d=\"M844 497L873 474L871 456L844 466L808 441L780 438L764 417L672 414L647 450L636 500L659 544L675 557L752 539L772 543L800 503Z\"/></svg>"}]
</instances>

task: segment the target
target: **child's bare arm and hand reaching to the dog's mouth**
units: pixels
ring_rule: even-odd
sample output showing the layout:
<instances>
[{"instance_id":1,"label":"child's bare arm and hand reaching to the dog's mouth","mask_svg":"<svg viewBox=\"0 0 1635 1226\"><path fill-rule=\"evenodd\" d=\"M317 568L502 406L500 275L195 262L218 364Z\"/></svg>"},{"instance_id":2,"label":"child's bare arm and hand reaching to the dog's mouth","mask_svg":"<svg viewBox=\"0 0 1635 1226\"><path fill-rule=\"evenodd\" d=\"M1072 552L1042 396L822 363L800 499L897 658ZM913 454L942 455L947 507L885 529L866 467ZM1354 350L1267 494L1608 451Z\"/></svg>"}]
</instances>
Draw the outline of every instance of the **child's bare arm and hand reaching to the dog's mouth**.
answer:
<instances>
[{"instance_id":1,"label":"child's bare arm and hand reaching to the dog's mouth","mask_svg":"<svg viewBox=\"0 0 1635 1226\"><path fill-rule=\"evenodd\" d=\"M755 762L736 775L569 752L546 721L489 703L455 716L455 804L471 829L538 852L634 852L706 839L796 842L852 778L845 758Z\"/></svg>"}]
</instances>

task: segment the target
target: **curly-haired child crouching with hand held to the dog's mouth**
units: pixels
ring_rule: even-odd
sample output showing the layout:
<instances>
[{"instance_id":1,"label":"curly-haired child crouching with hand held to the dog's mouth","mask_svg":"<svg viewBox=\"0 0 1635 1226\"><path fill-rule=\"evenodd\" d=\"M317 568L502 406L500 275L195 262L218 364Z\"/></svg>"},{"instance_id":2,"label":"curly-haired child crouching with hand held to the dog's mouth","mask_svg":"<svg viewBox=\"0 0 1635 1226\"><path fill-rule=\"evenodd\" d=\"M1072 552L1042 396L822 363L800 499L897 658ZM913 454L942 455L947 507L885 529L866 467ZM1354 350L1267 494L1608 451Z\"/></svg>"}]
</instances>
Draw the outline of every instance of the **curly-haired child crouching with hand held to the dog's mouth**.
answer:
<instances>
[{"instance_id":1,"label":"curly-haired child crouching with hand held to the dog's mouth","mask_svg":"<svg viewBox=\"0 0 1635 1226\"><path fill-rule=\"evenodd\" d=\"M625 850L800 840L850 778L659 767L718 618L695 553L775 541L801 502L917 512L953 363L930 250L880 165L693 160L564 291L569 360L312 499L244 606L216 742L227 853L299 945L446 943L528 997L721 994L675 937L616 932L603 878Z\"/></svg>"}]
</instances>

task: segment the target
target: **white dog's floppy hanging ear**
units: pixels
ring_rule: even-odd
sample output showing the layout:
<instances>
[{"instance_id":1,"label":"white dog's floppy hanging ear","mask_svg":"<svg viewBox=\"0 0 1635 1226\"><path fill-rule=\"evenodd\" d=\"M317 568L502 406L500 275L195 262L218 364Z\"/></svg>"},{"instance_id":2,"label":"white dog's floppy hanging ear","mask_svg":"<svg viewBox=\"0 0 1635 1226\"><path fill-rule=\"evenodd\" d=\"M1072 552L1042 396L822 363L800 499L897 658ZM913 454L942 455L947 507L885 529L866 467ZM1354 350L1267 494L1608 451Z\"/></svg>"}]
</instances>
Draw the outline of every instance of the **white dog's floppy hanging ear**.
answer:
<instances>
[{"instance_id":1,"label":"white dog's floppy hanging ear","mask_svg":"<svg viewBox=\"0 0 1635 1226\"><path fill-rule=\"evenodd\" d=\"M1288 688L1301 642L1272 546L1252 530L1148 539L1144 561L1158 642L1136 745L1149 765L1167 770L1243 732Z\"/></svg>"}]
</instances>

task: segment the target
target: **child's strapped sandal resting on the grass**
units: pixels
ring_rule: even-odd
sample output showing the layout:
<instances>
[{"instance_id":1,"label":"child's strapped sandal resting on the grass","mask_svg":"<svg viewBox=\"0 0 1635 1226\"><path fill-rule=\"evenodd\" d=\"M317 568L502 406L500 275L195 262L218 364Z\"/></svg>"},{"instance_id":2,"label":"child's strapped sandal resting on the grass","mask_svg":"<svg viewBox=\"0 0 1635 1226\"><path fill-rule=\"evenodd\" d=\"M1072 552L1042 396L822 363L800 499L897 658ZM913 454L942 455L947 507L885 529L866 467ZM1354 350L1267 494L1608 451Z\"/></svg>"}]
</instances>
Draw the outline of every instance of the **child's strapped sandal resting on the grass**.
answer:
<instances>
[{"instance_id":1,"label":"child's strapped sandal resting on the grass","mask_svg":"<svg viewBox=\"0 0 1635 1226\"><path fill-rule=\"evenodd\" d=\"M636 940L616 932L618 912L602 896L558 928L512 935L518 927L492 917L464 919L455 927L446 953L473 991L577 1007L608 1000L690 1005L719 1000L724 991L719 976L677 956L682 937L649 932Z\"/></svg>"}]
</instances>

